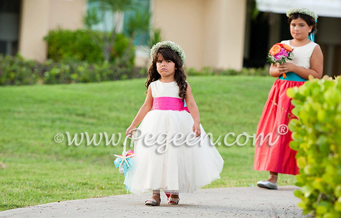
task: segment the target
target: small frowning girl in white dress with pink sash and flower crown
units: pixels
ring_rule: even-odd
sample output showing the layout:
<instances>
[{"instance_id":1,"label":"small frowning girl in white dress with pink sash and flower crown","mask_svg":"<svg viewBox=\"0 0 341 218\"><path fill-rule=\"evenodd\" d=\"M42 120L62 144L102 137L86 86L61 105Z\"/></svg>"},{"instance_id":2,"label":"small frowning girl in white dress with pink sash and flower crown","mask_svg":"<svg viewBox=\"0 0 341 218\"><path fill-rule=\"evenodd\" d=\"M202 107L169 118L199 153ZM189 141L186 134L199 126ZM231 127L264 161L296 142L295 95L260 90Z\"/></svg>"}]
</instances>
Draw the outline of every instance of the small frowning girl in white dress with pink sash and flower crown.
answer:
<instances>
[{"instance_id":1,"label":"small frowning girl in white dress with pink sash and flower crown","mask_svg":"<svg viewBox=\"0 0 341 218\"><path fill-rule=\"evenodd\" d=\"M170 192L169 204L178 204L180 192L192 193L219 179L224 161L200 124L182 68L184 51L164 41L152 47L150 57L147 97L126 131L135 131L135 164L125 184L132 193L152 191L146 205L160 205L160 190Z\"/></svg>"}]
</instances>

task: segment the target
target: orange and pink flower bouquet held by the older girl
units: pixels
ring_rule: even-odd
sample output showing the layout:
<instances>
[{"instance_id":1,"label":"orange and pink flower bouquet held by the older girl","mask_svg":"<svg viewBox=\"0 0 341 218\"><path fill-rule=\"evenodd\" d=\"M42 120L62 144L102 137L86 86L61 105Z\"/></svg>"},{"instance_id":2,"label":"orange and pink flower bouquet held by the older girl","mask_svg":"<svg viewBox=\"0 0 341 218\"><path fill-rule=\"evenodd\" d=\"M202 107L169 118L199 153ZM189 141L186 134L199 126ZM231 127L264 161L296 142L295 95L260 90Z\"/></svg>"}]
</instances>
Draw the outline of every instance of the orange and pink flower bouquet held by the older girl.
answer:
<instances>
[{"instance_id":1,"label":"orange and pink flower bouquet held by the older girl","mask_svg":"<svg viewBox=\"0 0 341 218\"><path fill-rule=\"evenodd\" d=\"M274 44L268 53L268 61L275 65L277 63L284 64L286 60L293 60L293 48L287 44L277 43ZM286 78L285 73L283 73L283 78Z\"/></svg>"}]
</instances>

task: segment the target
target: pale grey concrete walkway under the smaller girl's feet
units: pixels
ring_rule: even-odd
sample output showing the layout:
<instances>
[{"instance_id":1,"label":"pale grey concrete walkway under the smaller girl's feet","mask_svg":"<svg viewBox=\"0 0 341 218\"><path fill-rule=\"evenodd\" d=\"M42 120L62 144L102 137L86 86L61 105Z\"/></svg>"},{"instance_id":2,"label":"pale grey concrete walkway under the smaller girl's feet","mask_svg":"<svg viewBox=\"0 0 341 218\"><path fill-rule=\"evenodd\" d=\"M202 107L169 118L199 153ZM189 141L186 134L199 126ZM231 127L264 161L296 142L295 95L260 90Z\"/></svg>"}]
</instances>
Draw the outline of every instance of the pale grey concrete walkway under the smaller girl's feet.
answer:
<instances>
[{"instance_id":1,"label":"pale grey concrete walkway under the smaller girl's feet","mask_svg":"<svg viewBox=\"0 0 341 218\"><path fill-rule=\"evenodd\" d=\"M201 189L181 194L179 205L168 205L161 193L161 205L145 206L150 194L120 195L48 203L0 212L0 218L136 218L136 217L227 217L303 218L296 186L278 190L258 187Z\"/></svg>"}]
</instances>

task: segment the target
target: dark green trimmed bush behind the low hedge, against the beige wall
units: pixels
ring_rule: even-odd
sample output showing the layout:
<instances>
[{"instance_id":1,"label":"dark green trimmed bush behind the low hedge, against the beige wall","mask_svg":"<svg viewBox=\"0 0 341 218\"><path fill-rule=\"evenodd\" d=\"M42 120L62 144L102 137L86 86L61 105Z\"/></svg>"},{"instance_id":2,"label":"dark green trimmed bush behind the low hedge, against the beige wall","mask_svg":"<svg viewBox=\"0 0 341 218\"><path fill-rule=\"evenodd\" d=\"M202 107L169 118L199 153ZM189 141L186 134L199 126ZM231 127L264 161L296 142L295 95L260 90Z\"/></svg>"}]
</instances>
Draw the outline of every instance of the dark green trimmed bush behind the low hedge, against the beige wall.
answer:
<instances>
[{"instance_id":1,"label":"dark green trimmed bush behind the low hedge, against the beige wall","mask_svg":"<svg viewBox=\"0 0 341 218\"><path fill-rule=\"evenodd\" d=\"M93 35L91 35L93 34ZM96 44L94 38L103 37L101 32L89 33L86 30L51 30L44 40L48 44L47 57L55 62L58 61L86 61L99 63L104 61L103 51L100 44ZM128 48L129 39L123 34L117 34L115 43L111 49L111 60L117 63ZM134 54L134 46L128 51ZM134 64L134 55L129 60Z\"/></svg>"}]
</instances>

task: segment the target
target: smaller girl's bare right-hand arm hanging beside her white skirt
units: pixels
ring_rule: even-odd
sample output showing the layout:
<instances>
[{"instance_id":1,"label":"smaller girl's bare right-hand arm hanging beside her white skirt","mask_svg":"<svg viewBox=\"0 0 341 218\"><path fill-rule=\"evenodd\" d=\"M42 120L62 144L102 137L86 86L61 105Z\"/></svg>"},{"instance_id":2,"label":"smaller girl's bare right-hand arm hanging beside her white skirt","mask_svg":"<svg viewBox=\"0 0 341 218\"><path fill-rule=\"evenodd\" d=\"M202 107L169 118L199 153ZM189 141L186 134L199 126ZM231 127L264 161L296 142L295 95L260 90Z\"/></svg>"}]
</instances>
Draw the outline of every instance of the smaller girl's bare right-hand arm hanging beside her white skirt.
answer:
<instances>
[{"instance_id":1,"label":"smaller girl's bare right-hand arm hanging beside her white skirt","mask_svg":"<svg viewBox=\"0 0 341 218\"><path fill-rule=\"evenodd\" d=\"M189 83L187 83L187 85L188 86L187 86L185 100L186 100L187 108L191 112L192 118L194 120L194 124L192 127L193 132L195 134L195 137L198 137L201 134L199 109L198 109L198 106L196 106L196 103L194 101L193 94L192 94L192 88L191 88Z\"/></svg>"}]
</instances>

